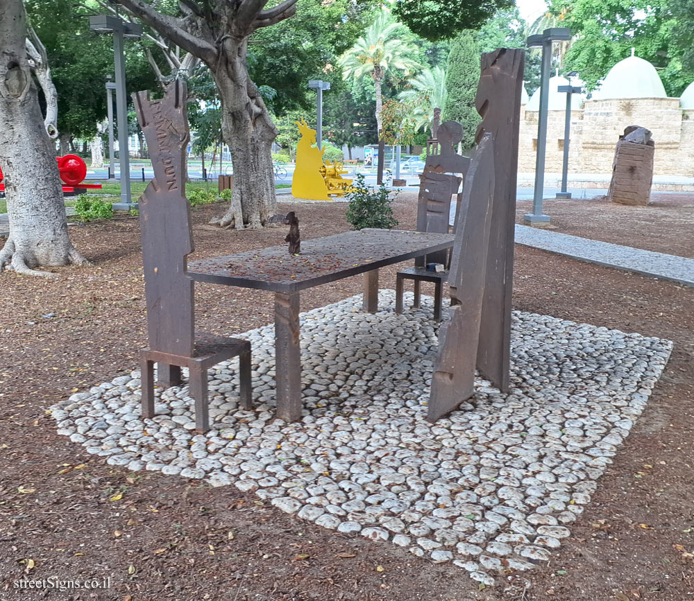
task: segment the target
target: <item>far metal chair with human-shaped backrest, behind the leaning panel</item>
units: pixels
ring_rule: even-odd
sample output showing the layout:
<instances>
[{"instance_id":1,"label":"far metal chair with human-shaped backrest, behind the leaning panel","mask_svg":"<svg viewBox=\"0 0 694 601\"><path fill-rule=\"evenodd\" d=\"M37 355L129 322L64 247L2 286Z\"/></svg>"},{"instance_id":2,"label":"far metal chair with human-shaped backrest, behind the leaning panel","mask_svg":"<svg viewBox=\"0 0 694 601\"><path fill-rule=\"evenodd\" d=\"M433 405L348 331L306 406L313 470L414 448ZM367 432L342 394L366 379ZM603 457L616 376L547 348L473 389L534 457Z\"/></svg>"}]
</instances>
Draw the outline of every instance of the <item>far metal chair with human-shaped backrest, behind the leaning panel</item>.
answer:
<instances>
[{"instance_id":1,"label":"far metal chair with human-shaped backrest, behind the leaning panel","mask_svg":"<svg viewBox=\"0 0 694 601\"><path fill-rule=\"evenodd\" d=\"M450 204L456 196L459 205L458 190L462 177L468 170L470 159L457 155L453 147L462 138L462 126L457 121L446 121L437 128L438 154L427 157L424 173L420 176L419 196L417 202L417 231L431 234L448 234L450 223ZM456 231L457 216L453 231ZM396 313L403 312L403 289L405 279L414 281L414 307L420 306L421 282L434 284L434 320L441 321L441 306L443 303L443 284L448 280L448 271L430 271L426 268L429 263L439 263L448 268L448 251L439 251L427 256L418 257L414 268L398 271L396 275Z\"/></svg>"}]
</instances>

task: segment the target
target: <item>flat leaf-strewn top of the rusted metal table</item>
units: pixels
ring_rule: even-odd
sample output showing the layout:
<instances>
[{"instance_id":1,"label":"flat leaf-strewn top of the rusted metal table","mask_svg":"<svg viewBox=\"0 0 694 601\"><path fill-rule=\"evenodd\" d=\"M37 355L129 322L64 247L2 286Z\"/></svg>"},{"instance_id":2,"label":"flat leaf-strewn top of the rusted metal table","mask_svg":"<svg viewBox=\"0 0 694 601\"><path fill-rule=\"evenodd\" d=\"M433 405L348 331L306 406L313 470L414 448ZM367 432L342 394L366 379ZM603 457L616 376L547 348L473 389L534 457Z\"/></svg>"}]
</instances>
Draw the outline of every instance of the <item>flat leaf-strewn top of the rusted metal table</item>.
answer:
<instances>
[{"instance_id":1,"label":"flat leaf-strewn top of the rusted metal table","mask_svg":"<svg viewBox=\"0 0 694 601\"><path fill-rule=\"evenodd\" d=\"M301 241L298 256L289 254L287 245L272 246L193 261L187 273L195 281L291 293L450 248L454 238L452 234L361 229Z\"/></svg>"}]
</instances>

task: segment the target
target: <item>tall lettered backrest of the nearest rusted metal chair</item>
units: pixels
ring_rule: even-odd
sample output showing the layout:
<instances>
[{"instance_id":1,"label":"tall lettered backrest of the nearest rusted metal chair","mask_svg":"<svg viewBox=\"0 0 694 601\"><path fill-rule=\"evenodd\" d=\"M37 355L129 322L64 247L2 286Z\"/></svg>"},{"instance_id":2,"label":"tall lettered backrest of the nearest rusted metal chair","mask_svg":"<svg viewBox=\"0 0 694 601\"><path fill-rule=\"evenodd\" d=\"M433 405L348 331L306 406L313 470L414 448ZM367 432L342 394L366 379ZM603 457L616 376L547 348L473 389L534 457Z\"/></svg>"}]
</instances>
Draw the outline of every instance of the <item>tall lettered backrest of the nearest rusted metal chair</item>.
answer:
<instances>
[{"instance_id":1,"label":"tall lettered backrest of the nearest rusted metal chair","mask_svg":"<svg viewBox=\"0 0 694 601\"><path fill-rule=\"evenodd\" d=\"M161 100L133 94L137 119L152 159L154 179L139 199L149 346L190 356L194 344L193 281L186 275L193 251L190 205L185 198L189 137L185 82L176 80Z\"/></svg>"}]
</instances>

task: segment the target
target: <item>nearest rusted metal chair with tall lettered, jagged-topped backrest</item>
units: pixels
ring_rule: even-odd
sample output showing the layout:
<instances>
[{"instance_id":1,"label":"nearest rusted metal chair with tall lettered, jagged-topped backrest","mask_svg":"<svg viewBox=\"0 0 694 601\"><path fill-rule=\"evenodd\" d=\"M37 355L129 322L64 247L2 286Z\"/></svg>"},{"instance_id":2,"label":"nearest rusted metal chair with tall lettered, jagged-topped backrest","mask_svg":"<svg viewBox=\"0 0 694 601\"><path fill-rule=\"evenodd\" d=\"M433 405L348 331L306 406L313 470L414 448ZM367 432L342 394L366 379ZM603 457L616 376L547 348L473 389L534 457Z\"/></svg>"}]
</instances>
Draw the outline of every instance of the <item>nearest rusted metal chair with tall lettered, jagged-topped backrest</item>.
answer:
<instances>
[{"instance_id":1,"label":"nearest rusted metal chair with tall lettered, jagged-topped backrest","mask_svg":"<svg viewBox=\"0 0 694 601\"><path fill-rule=\"evenodd\" d=\"M185 197L185 82L171 83L161 100L150 101L149 92L137 92L133 100L154 169L154 179L139 200L149 333L149 348L140 351L142 417L154 417L154 363L159 363L164 385L179 384L180 367L188 367L196 430L202 433L209 429L208 367L239 356L242 406L251 408L251 344L194 334L193 281L187 276L193 236Z\"/></svg>"}]
</instances>

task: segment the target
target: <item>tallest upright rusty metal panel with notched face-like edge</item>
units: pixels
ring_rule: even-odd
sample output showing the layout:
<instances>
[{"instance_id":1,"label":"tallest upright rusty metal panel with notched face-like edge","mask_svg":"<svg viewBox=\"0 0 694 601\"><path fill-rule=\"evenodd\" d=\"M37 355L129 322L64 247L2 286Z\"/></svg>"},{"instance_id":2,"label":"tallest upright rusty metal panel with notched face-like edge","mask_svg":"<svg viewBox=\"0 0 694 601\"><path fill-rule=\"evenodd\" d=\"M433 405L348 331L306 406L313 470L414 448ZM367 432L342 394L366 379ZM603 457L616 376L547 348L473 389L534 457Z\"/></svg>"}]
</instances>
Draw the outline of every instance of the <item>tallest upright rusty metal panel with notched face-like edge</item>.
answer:
<instances>
[{"instance_id":1,"label":"tallest upright rusty metal panel with notched face-like edge","mask_svg":"<svg viewBox=\"0 0 694 601\"><path fill-rule=\"evenodd\" d=\"M509 388L511 294L514 280L514 225L518 175L518 128L525 51L497 49L482 55L475 104L482 116L477 141L493 134L496 170L486 286L482 304L477 368L500 390Z\"/></svg>"}]
</instances>

